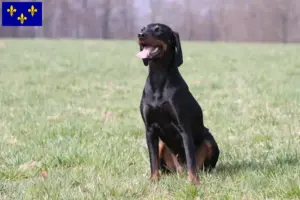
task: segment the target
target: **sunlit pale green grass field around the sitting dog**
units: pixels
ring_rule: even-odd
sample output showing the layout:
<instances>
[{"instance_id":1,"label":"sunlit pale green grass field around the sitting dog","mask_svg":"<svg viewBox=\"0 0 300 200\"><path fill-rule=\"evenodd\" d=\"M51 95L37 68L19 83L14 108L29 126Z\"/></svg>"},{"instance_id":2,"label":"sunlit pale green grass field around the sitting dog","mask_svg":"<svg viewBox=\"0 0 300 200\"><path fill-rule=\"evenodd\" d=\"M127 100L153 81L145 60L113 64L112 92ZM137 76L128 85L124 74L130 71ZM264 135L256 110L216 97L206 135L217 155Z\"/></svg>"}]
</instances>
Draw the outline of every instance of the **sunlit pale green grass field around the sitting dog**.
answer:
<instances>
[{"instance_id":1,"label":"sunlit pale green grass field around the sitting dog","mask_svg":"<svg viewBox=\"0 0 300 200\"><path fill-rule=\"evenodd\" d=\"M221 149L199 187L148 181L134 41L0 40L0 199L300 199L300 46L182 45Z\"/></svg>"}]
</instances>

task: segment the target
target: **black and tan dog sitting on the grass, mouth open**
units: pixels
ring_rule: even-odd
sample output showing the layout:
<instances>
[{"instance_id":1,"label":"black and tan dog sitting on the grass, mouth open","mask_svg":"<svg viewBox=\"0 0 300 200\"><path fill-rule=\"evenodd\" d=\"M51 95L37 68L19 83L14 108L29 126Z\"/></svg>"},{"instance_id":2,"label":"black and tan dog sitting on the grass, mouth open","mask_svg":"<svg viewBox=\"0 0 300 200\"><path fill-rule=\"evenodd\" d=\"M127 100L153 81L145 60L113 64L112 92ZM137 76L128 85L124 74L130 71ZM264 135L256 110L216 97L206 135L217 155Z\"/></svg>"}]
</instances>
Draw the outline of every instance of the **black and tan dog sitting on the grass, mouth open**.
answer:
<instances>
[{"instance_id":1,"label":"black and tan dog sitting on the grass, mouth open","mask_svg":"<svg viewBox=\"0 0 300 200\"><path fill-rule=\"evenodd\" d=\"M216 166L219 148L204 126L201 107L179 73L183 63L179 34L164 24L149 24L138 34L140 52L149 74L140 104L146 127L151 180L162 171L182 172L199 184L197 169Z\"/></svg>"}]
</instances>

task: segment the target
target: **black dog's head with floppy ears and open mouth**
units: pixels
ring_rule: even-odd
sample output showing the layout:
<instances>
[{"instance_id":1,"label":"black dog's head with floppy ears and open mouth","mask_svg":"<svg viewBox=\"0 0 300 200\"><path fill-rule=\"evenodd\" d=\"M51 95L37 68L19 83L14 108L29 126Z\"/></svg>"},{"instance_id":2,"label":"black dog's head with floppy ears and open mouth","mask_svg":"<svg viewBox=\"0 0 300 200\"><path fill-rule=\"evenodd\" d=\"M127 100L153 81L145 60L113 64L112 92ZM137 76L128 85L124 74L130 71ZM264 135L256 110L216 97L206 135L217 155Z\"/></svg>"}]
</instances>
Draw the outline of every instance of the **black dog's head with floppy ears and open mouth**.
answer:
<instances>
[{"instance_id":1,"label":"black dog's head with floppy ears and open mouth","mask_svg":"<svg viewBox=\"0 0 300 200\"><path fill-rule=\"evenodd\" d=\"M151 60L172 60L176 67L183 63L179 34L164 24L144 26L138 34L138 57L147 66Z\"/></svg>"}]
</instances>

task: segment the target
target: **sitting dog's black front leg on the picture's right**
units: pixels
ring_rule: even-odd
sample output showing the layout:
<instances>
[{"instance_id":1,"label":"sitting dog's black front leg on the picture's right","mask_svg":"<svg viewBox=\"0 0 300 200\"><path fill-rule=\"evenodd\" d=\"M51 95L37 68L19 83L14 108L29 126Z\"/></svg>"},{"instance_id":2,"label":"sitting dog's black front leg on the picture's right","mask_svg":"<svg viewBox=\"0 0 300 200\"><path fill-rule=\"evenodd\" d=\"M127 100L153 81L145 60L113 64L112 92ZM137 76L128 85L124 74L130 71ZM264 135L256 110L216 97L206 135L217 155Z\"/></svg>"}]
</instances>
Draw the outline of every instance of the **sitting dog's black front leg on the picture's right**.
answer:
<instances>
[{"instance_id":1,"label":"sitting dog's black front leg on the picture's right","mask_svg":"<svg viewBox=\"0 0 300 200\"><path fill-rule=\"evenodd\" d=\"M181 126L181 137L186 157L188 179L195 185L200 184L197 174L195 145L189 127Z\"/></svg>"}]
</instances>

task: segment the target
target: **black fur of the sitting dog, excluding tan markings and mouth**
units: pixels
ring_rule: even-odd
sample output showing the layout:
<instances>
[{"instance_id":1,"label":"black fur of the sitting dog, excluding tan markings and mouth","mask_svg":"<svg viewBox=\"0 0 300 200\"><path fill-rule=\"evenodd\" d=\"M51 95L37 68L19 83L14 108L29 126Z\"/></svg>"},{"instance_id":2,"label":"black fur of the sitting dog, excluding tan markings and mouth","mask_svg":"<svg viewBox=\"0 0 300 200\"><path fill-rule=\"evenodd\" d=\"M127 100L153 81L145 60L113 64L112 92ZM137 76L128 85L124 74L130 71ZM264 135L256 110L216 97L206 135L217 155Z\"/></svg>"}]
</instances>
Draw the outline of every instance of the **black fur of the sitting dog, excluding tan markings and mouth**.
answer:
<instances>
[{"instance_id":1,"label":"black fur of the sitting dog, excluding tan markings and mouth","mask_svg":"<svg viewBox=\"0 0 300 200\"><path fill-rule=\"evenodd\" d=\"M178 154L190 171L196 168L196 149L204 141L209 141L212 157L204 165L206 169L214 168L219 157L218 145L204 126L202 109L178 70L183 63L179 34L167 25L156 23L145 26L140 35L163 41L167 45L161 57L143 59L144 65L149 65L149 74L142 94L140 113L146 128L151 175L157 171L159 140L175 155ZM139 37L139 40L143 42L146 39ZM158 163L161 165L164 161Z\"/></svg>"}]
</instances>

